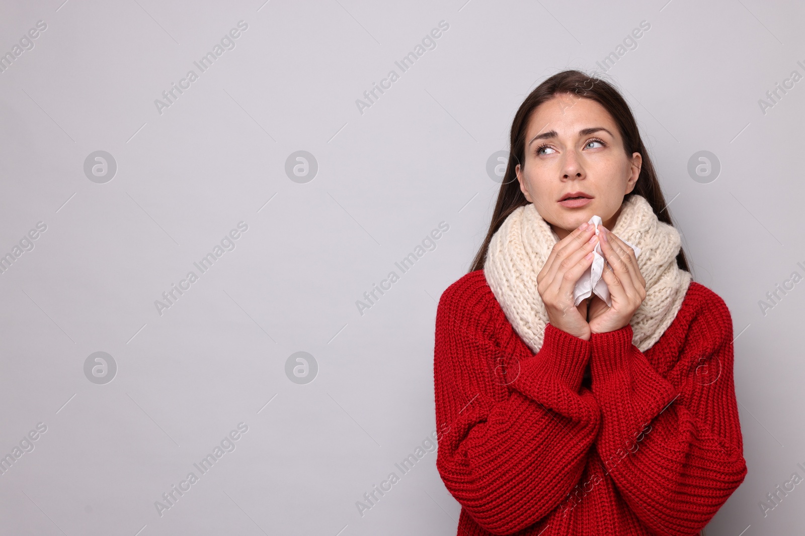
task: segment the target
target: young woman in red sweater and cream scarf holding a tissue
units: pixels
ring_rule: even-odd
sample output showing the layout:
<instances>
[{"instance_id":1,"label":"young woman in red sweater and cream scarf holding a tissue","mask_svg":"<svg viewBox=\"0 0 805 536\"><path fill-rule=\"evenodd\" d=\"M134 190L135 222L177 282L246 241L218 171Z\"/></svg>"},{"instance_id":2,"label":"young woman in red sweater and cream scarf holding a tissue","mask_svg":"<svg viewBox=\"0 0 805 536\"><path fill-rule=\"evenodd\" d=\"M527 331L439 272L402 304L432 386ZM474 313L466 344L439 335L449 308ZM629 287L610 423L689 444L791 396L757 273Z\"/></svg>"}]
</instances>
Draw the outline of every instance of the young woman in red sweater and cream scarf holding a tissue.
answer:
<instances>
[{"instance_id":1,"label":"young woman in red sweater and cream scarf holding a tissue","mask_svg":"<svg viewBox=\"0 0 805 536\"><path fill-rule=\"evenodd\" d=\"M747 472L729 310L691 282L610 84L551 76L510 144L486 239L436 313L457 534L698 534ZM580 295L596 261L605 284Z\"/></svg>"}]
</instances>

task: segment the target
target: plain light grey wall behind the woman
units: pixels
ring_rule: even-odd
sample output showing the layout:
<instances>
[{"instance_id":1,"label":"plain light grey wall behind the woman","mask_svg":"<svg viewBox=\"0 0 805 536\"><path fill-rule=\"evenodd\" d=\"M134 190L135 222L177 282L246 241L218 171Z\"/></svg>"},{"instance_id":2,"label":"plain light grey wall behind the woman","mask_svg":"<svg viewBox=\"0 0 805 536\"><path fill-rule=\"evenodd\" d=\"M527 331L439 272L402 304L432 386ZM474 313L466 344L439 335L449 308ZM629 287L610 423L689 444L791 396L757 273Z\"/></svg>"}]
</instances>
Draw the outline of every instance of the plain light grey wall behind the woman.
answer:
<instances>
[{"instance_id":1,"label":"plain light grey wall behind the woman","mask_svg":"<svg viewBox=\"0 0 805 536\"><path fill-rule=\"evenodd\" d=\"M3 2L0 52L2 534L455 534L430 452L364 516L356 501L436 430L440 293L469 268L498 184L487 158L545 77L605 74L634 109L696 280L733 314L749 474L708 534L802 530L805 74L800 2ZM249 27L160 115L154 100ZM355 100L441 20L450 26L361 114ZM118 170L84 174L105 150ZM285 162L306 150L307 183ZM720 160L709 183L692 154ZM266 204L267 202L267 204ZM248 231L160 316L154 301L236 227ZM444 221L449 231L363 315L355 301ZM197 272L197 270L196 270ZM399 273L399 272L398 272ZM84 374L113 356L113 381ZM293 383L308 352L316 378ZM249 430L160 517L154 502L237 423ZM748 530L747 530L747 527ZM741 533L741 531L745 532ZM138 532L139 531L139 532Z\"/></svg>"}]
</instances>

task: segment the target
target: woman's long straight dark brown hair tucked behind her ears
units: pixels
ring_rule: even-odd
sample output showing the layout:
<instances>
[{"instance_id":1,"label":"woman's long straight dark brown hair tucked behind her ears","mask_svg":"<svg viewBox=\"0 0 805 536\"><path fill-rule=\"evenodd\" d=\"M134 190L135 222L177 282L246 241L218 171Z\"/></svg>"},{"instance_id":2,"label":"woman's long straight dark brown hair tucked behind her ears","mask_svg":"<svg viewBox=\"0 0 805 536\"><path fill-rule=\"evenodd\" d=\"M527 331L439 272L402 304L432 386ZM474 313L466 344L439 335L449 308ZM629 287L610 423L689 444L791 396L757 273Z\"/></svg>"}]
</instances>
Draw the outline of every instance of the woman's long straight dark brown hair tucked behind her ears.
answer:
<instances>
[{"instance_id":1,"label":"woman's long straight dark brown hair tucked behind her ears","mask_svg":"<svg viewBox=\"0 0 805 536\"><path fill-rule=\"evenodd\" d=\"M654 214L659 221L673 225L671 215L668 214L667 204L663 197L663 190L660 189L654 165L651 163L646 145L643 145L638 124L634 121L634 116L629 108L629 104L611 84L595 76L589 76L580 71L563 71L544 80L534 91L522 101L520 108L514 114L514 121L511 124L509 162L506 164L506 174L503 175L500 192L497 194L497 203L492 214L492 222L489 223L489 231L486 233L484 243L478 250L473 260L470 272L484 268L486 260L486 250L489 248L489 240L495 231L502 225L504 220L518 207L527 205L529 202L520 190L520 183L517 180L515 167L519 162L525 162L526 129L531 113L546 100L560 93L572 93L584 99L595 100L601 104L613 117L618 130L623 138L623 146L628 156L632 153L640 153L642 166L638 182L634 185L634 190L625 195L624 199L630 198L634 194L642 195L649 202ZM676 256L676 264L679 268L690 272L687 268L687 258L682 248Z\"/></svg>"}]
</instances>

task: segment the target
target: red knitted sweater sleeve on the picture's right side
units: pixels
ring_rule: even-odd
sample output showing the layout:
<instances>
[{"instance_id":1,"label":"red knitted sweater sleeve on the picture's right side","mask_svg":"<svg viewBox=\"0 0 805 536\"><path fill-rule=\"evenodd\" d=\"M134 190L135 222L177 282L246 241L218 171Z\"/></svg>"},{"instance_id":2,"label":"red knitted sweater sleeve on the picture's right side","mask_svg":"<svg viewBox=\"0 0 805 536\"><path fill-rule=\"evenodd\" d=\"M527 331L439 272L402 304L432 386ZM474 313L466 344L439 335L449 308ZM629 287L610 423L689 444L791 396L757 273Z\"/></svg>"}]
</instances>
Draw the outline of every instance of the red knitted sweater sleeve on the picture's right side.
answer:
<instances>
[{"instance_id":1,"label":"red knitted sweater sleeve on the picture's right side","mask_svg":"<svg viewBox=\"0 0 805 536\"><path fill-rule=\"evenodd\" d=\"M667 377L632 344L632 328L591 337L596 448L630 509L656 534L707 525L747 473L733 384L733 323L711 293ZM671 346L671 345L667 345ZM666 351L666 350L663 350Z\"/></svg>"}]
</instances>

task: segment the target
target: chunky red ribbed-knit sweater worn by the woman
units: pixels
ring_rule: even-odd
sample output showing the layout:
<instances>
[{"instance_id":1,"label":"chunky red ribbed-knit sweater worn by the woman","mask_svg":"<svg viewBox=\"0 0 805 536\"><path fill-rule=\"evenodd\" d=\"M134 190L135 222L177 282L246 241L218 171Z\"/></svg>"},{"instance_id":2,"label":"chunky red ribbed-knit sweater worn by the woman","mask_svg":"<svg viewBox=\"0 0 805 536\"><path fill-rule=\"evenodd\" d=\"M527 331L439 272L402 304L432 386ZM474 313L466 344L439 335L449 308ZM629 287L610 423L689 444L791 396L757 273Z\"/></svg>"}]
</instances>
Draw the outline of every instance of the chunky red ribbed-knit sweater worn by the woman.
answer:
<instances>
[{"instance_id":1,"label":"chunky red ribbed-knit sweater worn by the woman","mask_svg":"<svg viewBox=\"0 0 805 536\"><path fill-rule=\"evenodd\" d=\"M440 298L433 373L459 536L690 536L746 475L733 322L701 284L645 353L630 325L548 324L534 354L471 272Z\"/></svg>"}]
</instances>

